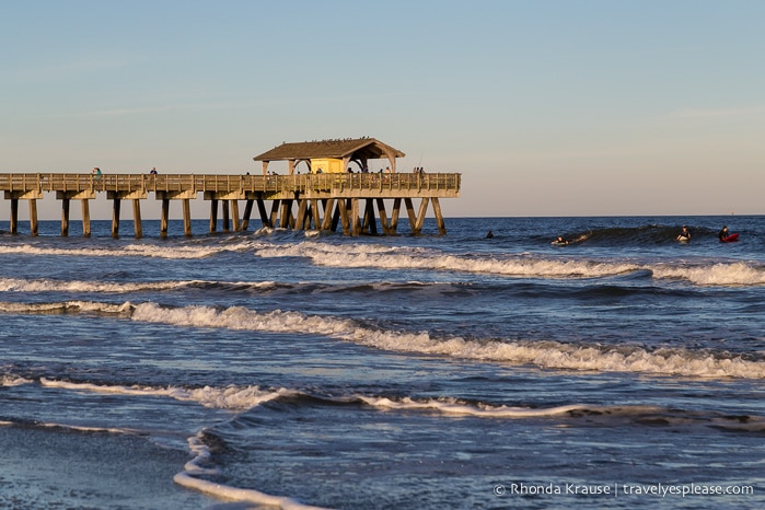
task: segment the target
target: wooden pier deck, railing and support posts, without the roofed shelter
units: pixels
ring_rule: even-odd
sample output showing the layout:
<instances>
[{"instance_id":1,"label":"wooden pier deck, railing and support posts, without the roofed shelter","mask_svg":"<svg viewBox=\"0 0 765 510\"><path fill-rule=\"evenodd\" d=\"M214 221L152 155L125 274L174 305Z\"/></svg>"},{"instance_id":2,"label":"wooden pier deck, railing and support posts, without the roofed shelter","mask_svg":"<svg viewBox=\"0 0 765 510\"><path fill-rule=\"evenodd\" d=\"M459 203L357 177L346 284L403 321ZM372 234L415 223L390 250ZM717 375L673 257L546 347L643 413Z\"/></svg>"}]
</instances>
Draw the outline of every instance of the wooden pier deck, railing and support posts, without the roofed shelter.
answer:
<instances>
[{"instance_id":1,"label":"wooden pier deck, railing and support posts, without the roofed shelter","mask_svg":"<svg viewBox=\"0 0 765 510\"><path fill-rule=\"evenodd\" d=\"M292 166L290 166L292 170ZM265 166L264 166L265 173ZM254 207L263 227L337 231L346 235L396 234L402 202L413 234L419 234L432 206L438 229L445 233L440 198L460 196L456 173L310 173L295 175L152 175L152 174L0 174L0 190L11 202L10 232L18 233L19 200L27 200L30 230L37 235L37 200L46 193L61 200L61 235L69 234L71 200L80 200L82 231L91 233L90 200L100 194L113 201L112 236L119 236L120 205L132 201L136 237L143 236L141 200L150 195L162 201L160 236L167 235L170 200L183 202L184 233L192 235L189 200L199 194L210 201L210 232L217 230L219 202L222 229L247 230ZM240 218L239 202L245 201ZM385 201L391 201L387 216ZM415 210L415 201L419 206ZM376 211L376 212L375 212ZM378 220L382 232L378 231Z\"/></svg>"}]
</instances>

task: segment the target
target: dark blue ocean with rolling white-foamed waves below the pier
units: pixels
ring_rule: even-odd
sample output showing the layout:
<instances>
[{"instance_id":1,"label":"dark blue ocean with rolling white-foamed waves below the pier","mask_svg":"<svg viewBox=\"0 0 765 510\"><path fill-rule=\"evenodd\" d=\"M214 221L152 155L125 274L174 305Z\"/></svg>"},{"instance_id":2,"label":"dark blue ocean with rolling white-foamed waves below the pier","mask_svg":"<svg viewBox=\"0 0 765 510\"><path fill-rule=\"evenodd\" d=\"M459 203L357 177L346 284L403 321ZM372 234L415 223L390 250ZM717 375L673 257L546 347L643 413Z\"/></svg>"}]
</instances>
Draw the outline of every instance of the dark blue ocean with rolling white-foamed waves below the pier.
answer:
<instances>
[{"instance_id":1,"label":"dark blue ocean with rolling white-foamed waves below the pier","mask_svg":"<svg viewBox=\"0 0 765 510\"><path fill-rule=\"evenodd\" d=\"M0 508L765 508L765 217L158 223L0 234Z\"/></svg>"}]
</instances>

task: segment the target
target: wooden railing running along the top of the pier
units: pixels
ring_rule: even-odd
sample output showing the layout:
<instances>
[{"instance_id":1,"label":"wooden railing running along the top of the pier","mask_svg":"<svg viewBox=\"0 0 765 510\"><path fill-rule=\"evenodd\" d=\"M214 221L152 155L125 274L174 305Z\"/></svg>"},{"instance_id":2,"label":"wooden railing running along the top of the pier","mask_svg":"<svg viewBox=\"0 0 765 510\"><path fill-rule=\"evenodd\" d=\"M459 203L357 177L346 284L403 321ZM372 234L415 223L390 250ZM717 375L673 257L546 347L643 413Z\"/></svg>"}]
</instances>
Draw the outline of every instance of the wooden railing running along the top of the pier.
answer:
<instances>
[{"instance_id":1,"label":"wooden railing running along the top of the pier","mask_svg":"<svg viewBox=\"0 0 765 510\"><path fill-rule=\"evenodd\" d=\"M459 194L461 174L358 173L298 175L211 174L0 174L2 192L193 192L193 193L327 193L417 192ZM443 196L443 195L442 195Z\"/></svg>"}]
</instances>

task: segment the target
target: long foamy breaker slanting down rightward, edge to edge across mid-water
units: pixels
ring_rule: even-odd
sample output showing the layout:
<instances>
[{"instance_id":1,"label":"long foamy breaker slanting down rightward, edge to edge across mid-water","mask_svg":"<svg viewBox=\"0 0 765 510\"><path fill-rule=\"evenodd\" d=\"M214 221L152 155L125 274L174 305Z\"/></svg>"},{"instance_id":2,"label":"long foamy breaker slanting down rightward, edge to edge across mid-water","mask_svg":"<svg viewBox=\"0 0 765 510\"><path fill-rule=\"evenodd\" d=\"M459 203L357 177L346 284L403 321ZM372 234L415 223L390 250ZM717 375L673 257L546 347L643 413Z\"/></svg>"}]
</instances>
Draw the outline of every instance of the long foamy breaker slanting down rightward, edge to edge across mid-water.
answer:
<instances>
[{"instance_id":1,"label":"long foamy breaker slanting down rightward, edge to edge across mid-water","mask_svg":"<svg viewBox=\"0 0 765 510\"><path fill-rule=\"evenodd\" d=\"M50 308L68 311L129 315L144 323L178 327L215 327L233 331L322 335L381 350L418 352L433 356L536 366L544 369L601 372L637 372L658 375L698 378L765 379L765 361L746 359L726 351L662 348L648 350L635 346L599 346L559 341L439 338L427 332L407 333L376 329L359 321L301 312L257 312L244 306L205 305L166 308L146 302L132 304L69 301L53 304L0 303L0 311L50 313Z\"/></svg>"}]
</instances>

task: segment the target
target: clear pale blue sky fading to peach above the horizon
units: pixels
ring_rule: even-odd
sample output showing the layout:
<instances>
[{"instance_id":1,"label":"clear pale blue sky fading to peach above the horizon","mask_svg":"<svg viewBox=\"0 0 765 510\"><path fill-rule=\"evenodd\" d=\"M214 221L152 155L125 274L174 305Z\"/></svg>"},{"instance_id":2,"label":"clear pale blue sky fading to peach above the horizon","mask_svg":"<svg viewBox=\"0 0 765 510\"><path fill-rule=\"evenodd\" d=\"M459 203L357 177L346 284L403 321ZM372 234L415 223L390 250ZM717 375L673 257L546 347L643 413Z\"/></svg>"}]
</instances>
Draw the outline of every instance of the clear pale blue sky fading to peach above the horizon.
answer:
<instances>
[{"instance_id":1,"label":"clear pale blue sky fading to peach above the horizon","mask_svg":"<svg viewBox=\"0 0 765 510\"><path fill-rule=\"evenodd\" d=\"M762 215L763 20L760 0L0 0L0 173L257 173L285 141L368 136L399 171L462 174L447 217Z\"/></svg>"}]
</instances>

